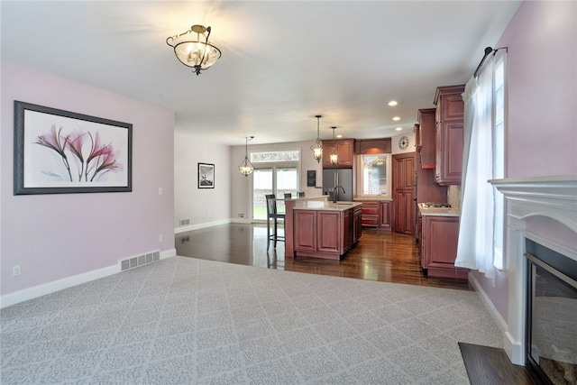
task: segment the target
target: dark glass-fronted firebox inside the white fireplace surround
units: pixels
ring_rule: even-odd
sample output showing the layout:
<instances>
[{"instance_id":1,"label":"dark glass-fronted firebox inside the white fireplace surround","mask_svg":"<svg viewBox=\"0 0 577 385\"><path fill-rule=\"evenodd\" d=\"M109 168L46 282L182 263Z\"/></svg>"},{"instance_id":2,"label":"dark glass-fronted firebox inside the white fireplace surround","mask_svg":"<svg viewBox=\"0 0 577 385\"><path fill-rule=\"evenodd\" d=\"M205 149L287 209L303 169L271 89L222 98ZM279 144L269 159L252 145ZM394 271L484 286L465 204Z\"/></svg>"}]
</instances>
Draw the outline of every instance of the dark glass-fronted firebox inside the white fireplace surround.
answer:
<instances>
[{"instance_id":1,"label":"dark glass-fronted firebox inside the white fireplace surround","mask_svg":"<svg viewBox=\"0 0 577 385\"><path fill-rule=\"evenodd\" d=\"M526 256L527 368L543 383L577 384L577 261L540 245Z\"/></svg>"}]
</instances>

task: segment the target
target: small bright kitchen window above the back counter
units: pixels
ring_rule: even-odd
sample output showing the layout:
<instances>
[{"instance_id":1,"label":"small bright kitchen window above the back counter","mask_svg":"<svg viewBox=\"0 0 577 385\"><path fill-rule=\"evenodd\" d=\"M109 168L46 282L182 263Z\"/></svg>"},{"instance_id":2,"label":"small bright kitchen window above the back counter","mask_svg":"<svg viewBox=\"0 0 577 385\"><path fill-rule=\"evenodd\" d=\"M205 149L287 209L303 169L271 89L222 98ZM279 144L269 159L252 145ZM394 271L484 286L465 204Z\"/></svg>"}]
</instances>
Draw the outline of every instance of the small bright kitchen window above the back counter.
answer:
<instances>
[{"instance_id":1,"label":"small bright kitchen window above the back counter","mask_svg":"<svg viewBox=\"0 0 577 385\"><path fill-rule=\"evenodd\" d=\"M357 195L389 196L390 154L358 155Z\"/></svg>"}]
</instances>

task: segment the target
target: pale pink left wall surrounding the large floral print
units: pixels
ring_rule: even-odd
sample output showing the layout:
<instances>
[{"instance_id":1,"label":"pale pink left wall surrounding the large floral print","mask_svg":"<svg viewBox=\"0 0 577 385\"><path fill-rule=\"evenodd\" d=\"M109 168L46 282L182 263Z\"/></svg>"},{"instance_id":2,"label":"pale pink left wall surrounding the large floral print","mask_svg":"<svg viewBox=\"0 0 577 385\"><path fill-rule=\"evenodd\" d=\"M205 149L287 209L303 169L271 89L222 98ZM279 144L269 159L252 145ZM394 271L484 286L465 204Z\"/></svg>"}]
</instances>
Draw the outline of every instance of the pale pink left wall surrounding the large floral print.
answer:
<instances>
[{"instance_id":1,"label":"pale pink left wall surrounding the large floral print","mask_svg":"<svg viewBox=\"0 0 577 385\"><path fill-rule=\"evenodd\" d=\"M173 112L6 62L1 76L0 293L174 249ZM14 196L14 100L132 123L133 191Z\"/></svg>"}]
</instances>

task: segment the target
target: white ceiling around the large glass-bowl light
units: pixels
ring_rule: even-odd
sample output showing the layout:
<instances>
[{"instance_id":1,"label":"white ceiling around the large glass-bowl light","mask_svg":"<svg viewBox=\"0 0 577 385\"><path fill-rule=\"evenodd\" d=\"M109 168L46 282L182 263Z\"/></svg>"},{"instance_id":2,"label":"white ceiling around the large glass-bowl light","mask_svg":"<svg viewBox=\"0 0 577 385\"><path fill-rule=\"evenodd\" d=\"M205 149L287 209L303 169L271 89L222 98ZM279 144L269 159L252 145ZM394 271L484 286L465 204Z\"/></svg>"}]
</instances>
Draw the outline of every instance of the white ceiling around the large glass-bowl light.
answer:
<instances>
[{"instance_id":1,"label":"white ceiling around the large glass-bowl light","mask_svg":"<svg viewBox=\"0 0 577 385\"><path fill-rule=\"evenodd\" d=\"M389 137L412 131L436 87L472 76L519 5L3 0L2 60L163 105L176 130L210 142L312 143L317 114L324 139L333 125ZM192 24L223 52L199 76L165 42Z\"/></svg>"}]
</instances>

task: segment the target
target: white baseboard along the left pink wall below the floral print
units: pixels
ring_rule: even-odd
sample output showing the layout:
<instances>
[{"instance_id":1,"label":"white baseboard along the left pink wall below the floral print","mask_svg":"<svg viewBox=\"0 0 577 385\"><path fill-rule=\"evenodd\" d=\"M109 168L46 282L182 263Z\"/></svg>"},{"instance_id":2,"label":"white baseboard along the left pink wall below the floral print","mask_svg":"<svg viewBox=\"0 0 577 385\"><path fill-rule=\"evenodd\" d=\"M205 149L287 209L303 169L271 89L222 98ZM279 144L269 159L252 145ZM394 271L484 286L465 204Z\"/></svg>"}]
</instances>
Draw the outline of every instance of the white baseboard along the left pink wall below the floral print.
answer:
<instances>
[{"instance_id":1,"label":"white baseboard along the left pink wall below the floral print","mask_svg":"<svg viewBox=\"0 0 577 385\"><path fill-rule=\"evenodd\" d=\"M176 249L165 250L160 252L160 260L174 257L177 255ZM132 258L132 257L129 257ZM53 280L51 282L43 283L32 288L17 290L12 293L5 294L0 297L0 308L9 307L32 298L38 298L62 289L68 289L91 280L98 280L109 275L121 272L120 262L112 266L107 266L102 269L87 271L71 277L66 277L61 280Z\"/></svg>"}]
</instances>

